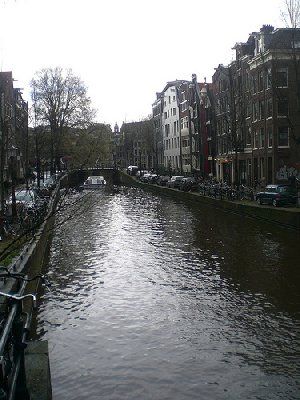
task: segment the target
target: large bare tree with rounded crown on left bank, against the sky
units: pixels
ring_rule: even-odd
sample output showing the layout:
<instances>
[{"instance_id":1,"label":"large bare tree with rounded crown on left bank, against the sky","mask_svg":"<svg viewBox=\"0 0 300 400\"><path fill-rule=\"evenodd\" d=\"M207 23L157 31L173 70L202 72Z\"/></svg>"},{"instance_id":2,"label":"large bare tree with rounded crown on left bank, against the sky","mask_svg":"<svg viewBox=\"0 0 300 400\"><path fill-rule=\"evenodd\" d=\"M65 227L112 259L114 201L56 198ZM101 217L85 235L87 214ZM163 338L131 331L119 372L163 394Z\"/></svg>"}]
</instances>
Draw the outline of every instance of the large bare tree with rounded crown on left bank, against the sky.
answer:
<instances>
[{"instance_id":1,"label":"large bare tree with rounded crown on left bank, against the sky","mask_svg":"<svg viewBox=\"0 0 300 400\"><path fill-rule=\"evenodd\" d=\"M31 81L38 125L50 127L50 169L59 169L62 136L69 128L87 127L95 116L87 88L72 70L60 67L37 72Z\"/></svg>"}]
</instances>

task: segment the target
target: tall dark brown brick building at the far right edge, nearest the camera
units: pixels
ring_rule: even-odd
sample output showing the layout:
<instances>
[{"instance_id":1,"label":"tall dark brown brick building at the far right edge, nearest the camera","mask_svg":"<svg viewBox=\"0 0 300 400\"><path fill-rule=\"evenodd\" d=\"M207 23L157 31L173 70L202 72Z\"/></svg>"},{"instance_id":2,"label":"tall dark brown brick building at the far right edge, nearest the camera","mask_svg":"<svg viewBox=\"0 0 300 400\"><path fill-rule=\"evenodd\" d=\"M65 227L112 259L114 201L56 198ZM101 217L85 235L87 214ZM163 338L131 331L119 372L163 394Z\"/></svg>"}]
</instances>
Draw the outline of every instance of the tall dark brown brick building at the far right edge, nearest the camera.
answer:
<instances>
[{"instance_id":1,"label":"tall dark brown brick building at the far right edge, nearest the camera","mask_svg":"<svg viewBox=\"0 0 300 400\"><path fill-rule=\"evenodd\" d=\"M249 61L253 82L253 177L300 179L300 29L261 30Z\"/></svg>"}]
</instances>

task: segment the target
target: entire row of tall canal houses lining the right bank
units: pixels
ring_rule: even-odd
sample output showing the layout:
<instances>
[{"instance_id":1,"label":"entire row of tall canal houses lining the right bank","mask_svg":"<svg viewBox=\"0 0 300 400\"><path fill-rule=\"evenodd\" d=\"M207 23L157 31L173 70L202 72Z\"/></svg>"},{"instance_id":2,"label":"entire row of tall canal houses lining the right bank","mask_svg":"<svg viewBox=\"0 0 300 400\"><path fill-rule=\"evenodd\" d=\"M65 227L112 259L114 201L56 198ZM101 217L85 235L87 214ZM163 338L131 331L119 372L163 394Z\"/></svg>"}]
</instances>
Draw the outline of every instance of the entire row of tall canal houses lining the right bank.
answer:
<instances>
[{"instance_id":1,"label":"entire row of tall canal houses lining the right bank","mask_svg":"<svg viewBox=\"0 0 300 400\"><path fill-rule=\"evenodd\" d=\"M234 50L212 83L167 82L151 128L124 124L124 166L234 185L300 180L300 29L264 25Z\"/></svg>"}]
</instances>

